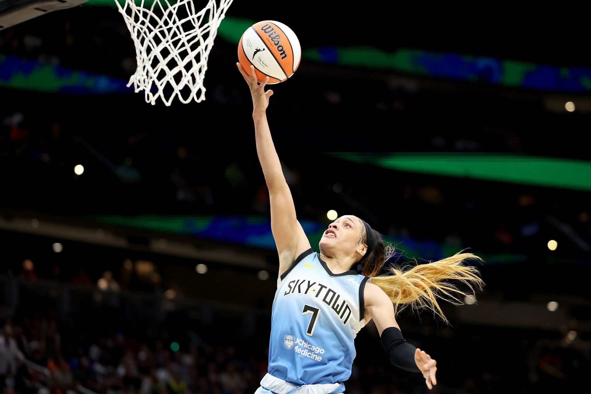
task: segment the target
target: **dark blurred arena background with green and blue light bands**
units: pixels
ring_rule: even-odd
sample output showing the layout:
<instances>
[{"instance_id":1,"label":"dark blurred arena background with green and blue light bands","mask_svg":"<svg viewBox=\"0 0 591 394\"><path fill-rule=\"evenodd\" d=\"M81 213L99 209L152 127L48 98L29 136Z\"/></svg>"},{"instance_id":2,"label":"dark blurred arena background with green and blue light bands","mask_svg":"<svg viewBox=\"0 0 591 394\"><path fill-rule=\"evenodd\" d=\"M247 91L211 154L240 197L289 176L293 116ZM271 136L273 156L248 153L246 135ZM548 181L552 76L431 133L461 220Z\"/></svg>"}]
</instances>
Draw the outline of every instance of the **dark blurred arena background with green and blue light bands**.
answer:
<instances>
[{"instance_id":1,"label":"dark blurred arena background with green and blue light bands","mask_svg":"<svg viewBox=\"0 0 591 394\"><path fill-rule=\"evenodd\" d=\"M0 17L18 1L9 3L0 0ZM242 32L266 19L302 47L294 76L268 86L267 116L314 250L335 210L397 246L387 265L466 248L484 260L473 264L485 289L465 305L443 302L449 326L428 310L397 317L437 360L433 390L388 362L369 324L346 393L586 390L587 22L369 2L283 7L230 6L206 100L186 105L152 106L125 86L135 48L114 1L0 30L2 392L258 388L278 258L235 63Z\"/></svg>"}]
</instances>

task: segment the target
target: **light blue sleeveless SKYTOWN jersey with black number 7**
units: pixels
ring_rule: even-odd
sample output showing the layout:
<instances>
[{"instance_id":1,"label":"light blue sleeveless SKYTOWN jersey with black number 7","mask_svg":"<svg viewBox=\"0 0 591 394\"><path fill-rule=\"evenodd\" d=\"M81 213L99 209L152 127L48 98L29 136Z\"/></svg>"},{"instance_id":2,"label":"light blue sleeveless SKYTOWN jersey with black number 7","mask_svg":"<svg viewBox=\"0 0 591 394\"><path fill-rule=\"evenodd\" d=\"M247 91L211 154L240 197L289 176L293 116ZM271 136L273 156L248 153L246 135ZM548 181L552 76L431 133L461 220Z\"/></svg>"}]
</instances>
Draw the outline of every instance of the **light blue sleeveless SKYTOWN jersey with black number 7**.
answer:
<instances>
[{"instance_id":1,"label":"light blue sleeveless SKYTOWN jersey with black number 7","mask_svg":"<svg viewBox=\"0 0 591 394\"><path fill-rule=\"evenodd\" d=\"M330 272L310 248L277 279L269 374L296 385L349 379L353 340L365 325L363 289L369 278ZM345 390L340 385L335 393Z\"/></svg>"}]
</instances>

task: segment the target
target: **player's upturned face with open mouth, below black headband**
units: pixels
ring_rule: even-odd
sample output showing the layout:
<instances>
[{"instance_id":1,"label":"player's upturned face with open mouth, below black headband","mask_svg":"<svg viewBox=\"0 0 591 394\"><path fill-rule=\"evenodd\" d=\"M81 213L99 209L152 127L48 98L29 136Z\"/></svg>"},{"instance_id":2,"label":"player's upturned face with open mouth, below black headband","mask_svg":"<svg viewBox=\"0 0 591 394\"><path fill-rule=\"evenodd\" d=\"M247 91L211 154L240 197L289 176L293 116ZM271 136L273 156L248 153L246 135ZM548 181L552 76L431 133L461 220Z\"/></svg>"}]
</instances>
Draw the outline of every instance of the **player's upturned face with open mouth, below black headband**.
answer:
<instances>
[{"instance_id":1,"label":"player's upturned face with open mouth, below black headband","mask_svg":"<svg viewBox=\"0 0 591 394\"><path fill-rule=\"evenodd\" d=\"M358 243L362 229L363 222L358 217L341 216L324 231L319 243L320 250L327 256L340 258L359 253L359 250L364 249L364 245Z\"/></svg>"}]
</instances>

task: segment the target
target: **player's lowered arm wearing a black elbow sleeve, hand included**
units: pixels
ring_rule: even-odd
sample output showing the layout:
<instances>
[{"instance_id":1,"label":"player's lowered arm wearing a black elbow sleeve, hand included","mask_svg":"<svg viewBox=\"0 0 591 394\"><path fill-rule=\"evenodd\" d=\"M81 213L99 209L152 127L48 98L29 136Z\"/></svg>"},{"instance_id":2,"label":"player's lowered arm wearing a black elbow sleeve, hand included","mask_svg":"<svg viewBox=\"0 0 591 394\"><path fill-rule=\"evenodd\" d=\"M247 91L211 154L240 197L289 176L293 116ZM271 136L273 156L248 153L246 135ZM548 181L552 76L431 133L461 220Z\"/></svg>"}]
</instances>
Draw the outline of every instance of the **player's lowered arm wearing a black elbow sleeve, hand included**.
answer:
<instances>
[{"instance_id":1,"label":"player's lowered arm wearing a black elbow sleeve, hand included","mask_svg":"<svg viewBox=\"0 0 591 394\"><path fill-rule=\"evenodd\" d=\"M384 350L390 362L401 369L421 372L429 389L437 384L435 372L437 362L424 351L415 348L404 340L400 327L396 322L394 305L384 291L378 286L368 283L363 292L365 321L374 319L378 328Z\"/></svg>"}]
</instances>

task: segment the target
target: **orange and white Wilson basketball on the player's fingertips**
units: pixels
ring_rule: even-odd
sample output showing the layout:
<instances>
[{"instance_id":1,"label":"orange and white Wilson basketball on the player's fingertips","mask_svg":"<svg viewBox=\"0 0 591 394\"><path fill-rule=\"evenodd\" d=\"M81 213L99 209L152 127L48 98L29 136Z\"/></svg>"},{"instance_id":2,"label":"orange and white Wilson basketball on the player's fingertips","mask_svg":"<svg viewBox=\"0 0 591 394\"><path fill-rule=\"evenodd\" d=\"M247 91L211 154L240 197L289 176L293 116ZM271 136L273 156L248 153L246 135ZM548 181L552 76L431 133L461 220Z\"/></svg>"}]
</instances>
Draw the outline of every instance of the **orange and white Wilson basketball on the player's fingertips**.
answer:
<instances>
[{"instance_id":1,"label":"orange and white Wilson basketball on the player's fingertips","mask_svg":"<svg viewBox=\"0 0 591 394\"><path fill-rule=\"evenodd\" d=\"M249 27L238 43L238 60L246 74L255 66L256 78L268 84L286 81L296 72L301 47L296 34L277 21L262 21Z\"/></svg>"}]
</instances>

